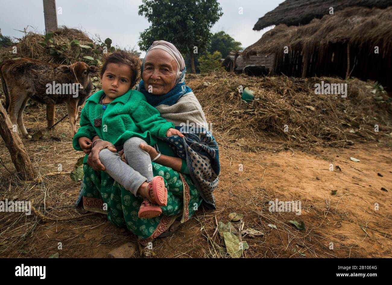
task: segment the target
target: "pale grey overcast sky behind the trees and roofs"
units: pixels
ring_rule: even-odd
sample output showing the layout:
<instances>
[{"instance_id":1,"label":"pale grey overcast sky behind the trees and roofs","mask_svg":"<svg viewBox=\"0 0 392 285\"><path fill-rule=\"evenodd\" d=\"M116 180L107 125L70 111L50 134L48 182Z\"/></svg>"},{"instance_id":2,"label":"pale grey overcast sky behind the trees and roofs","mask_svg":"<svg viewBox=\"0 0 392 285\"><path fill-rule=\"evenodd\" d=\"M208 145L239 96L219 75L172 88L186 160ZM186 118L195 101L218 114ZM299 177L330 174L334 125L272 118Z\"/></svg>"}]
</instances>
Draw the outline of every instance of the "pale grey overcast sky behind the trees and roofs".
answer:
<instances>
[{"instance_id":1,"label":"pale grey overcast sky behind the trees and roofs","mask_svg":"<svg viewBox=\"0 0 392 285\"><path fill-rule=\"evenodd\" d=\"M184 0L187 1L187 0ZM284 0L220 0L223 16L212 27L212 33L225 31L243 47L254 44L263 31L253 31L258 18L276 8ZM102 40L111 38L112 45L136 47L139 33L149 27L147 19L138 15L141 0L56 0L62 8L57 15L58 25L78 28L89 34L99 34ZM243 14L239 14L240 7ZM29 27L27 27L29 26ZM44 33L42 0L0 0L0 29L3 35L21 38L16 31ZM144 57L145 53L142 53Z\"/></svg>"}]
</instances>

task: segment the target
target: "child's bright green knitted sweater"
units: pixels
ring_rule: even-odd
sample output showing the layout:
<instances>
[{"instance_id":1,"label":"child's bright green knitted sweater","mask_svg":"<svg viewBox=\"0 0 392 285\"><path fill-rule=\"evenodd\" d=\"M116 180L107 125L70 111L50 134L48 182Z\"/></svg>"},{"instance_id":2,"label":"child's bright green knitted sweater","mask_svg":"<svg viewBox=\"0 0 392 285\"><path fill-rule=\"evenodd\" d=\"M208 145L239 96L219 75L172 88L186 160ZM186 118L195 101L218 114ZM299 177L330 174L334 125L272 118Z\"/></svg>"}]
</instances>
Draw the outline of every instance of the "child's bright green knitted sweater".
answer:
<instances>
[{"instance_id":1,"label":"child's bright green knitted sweater","mask_svg":"<svg viewBox=\"0 0 392 285\"><path fill-rule=\"evenodd\" d=\"M102 140L116 146L123 145L127 139L136 136L149 145L154 145L156 137L165 138L167 130L174 128L174 123L163 119L139 91L129 90L105 105L106 109L99 104L103 94L103 90L100 90L86 100L80 114L80 128L73 137L73 147L77 151L82 151L78 140L83 136L91 138L98 134ZM94 127L94 119L99 118L102 118L102 126ZM87 162L87 156L86 154L83 163Z\"/></svg>"}]
</instances>

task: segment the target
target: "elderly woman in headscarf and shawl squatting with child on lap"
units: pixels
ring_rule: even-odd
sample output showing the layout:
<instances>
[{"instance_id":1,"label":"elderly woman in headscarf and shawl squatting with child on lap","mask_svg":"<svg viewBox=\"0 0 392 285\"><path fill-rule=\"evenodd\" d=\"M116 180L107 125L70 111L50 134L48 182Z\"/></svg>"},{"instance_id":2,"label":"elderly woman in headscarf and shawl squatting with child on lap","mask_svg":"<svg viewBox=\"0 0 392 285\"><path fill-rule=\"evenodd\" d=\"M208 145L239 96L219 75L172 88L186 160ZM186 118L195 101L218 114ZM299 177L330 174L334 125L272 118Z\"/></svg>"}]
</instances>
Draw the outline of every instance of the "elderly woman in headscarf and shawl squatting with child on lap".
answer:
<instances>
[{"instance_id":1,"label":"elderly woman in headscarf and shawl squatting with child on lap","mask_svg":"<svg viewBox=\"0 0 392 285\"><path fill-rule=\"evenodd\" d=\"M111 223L126 227L143 244L174 232L191 218L202 202L215 209L212 191L218 184L220 171L218 145L205 129L207 122L200 103L185 85L185 71L184 59L176 47L163 40L155 41L143 60L142 80L136 85L162 118L173 122L185 135L160 139L154 147L140 144L153 160L154 176L160 175L165 180L167 205L161 207L160 216L138 218L143 197L135 197L104 171L100 151L116 151L110 142L94 143L88 164L83 166L77 204L83 203L88 211L107 214ZM187 125L196 126L196 132L189 132ZM93 141L97 139L99 136L94 136ZM126 162L123 152L118 154Z\"/></svg>"}]
</instances>

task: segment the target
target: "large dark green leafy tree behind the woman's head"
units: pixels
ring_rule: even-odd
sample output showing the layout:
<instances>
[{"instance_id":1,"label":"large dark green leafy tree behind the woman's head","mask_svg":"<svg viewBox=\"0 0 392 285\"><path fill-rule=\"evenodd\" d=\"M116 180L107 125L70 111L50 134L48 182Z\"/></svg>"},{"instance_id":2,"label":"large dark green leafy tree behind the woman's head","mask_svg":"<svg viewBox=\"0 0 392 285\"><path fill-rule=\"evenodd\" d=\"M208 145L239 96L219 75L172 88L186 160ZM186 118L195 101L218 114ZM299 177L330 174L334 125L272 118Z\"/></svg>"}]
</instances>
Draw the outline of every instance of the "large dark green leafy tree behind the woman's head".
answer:
<instances>
[{"instance_id":1,"label":"large dark green leafy tree behind the woman's head","mask_svg":"<svg viewBox=\"0 0 392 285\"><path fill-rule=\"evenodd\" d=\"M182 54L191 57L192 72L196 73L194 54L207 51L211 27L223 15L216 0L142 0L139 15L151 26L140 33L139 46L147 51L152 42L166 40Z\"/></svg>"}]
</instances>

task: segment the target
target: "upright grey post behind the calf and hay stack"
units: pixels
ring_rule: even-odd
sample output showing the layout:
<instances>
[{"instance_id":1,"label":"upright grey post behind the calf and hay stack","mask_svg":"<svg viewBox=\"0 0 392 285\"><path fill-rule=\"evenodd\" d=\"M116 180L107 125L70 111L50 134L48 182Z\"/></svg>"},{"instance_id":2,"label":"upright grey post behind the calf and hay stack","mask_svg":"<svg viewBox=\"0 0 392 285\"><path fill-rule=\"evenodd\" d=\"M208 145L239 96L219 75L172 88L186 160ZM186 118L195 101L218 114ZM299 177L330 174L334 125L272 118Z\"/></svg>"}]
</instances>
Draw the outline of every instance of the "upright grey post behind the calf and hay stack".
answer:
<instances>
[{"instance_id":1,"label":"upright grey post behind the calf and hay stack","mask_svg":"<svg viewBox=\"0 0 392 285\"><path fill-rule=\"evenodd\" d=\"M57 29L56 0L43 0L43 1L44 1L45 33L48 33ZM47 120L48 127L54 125L54 118L56 118L56 105L46 105L46 120Z\"/></svg>"}]
</instances>

